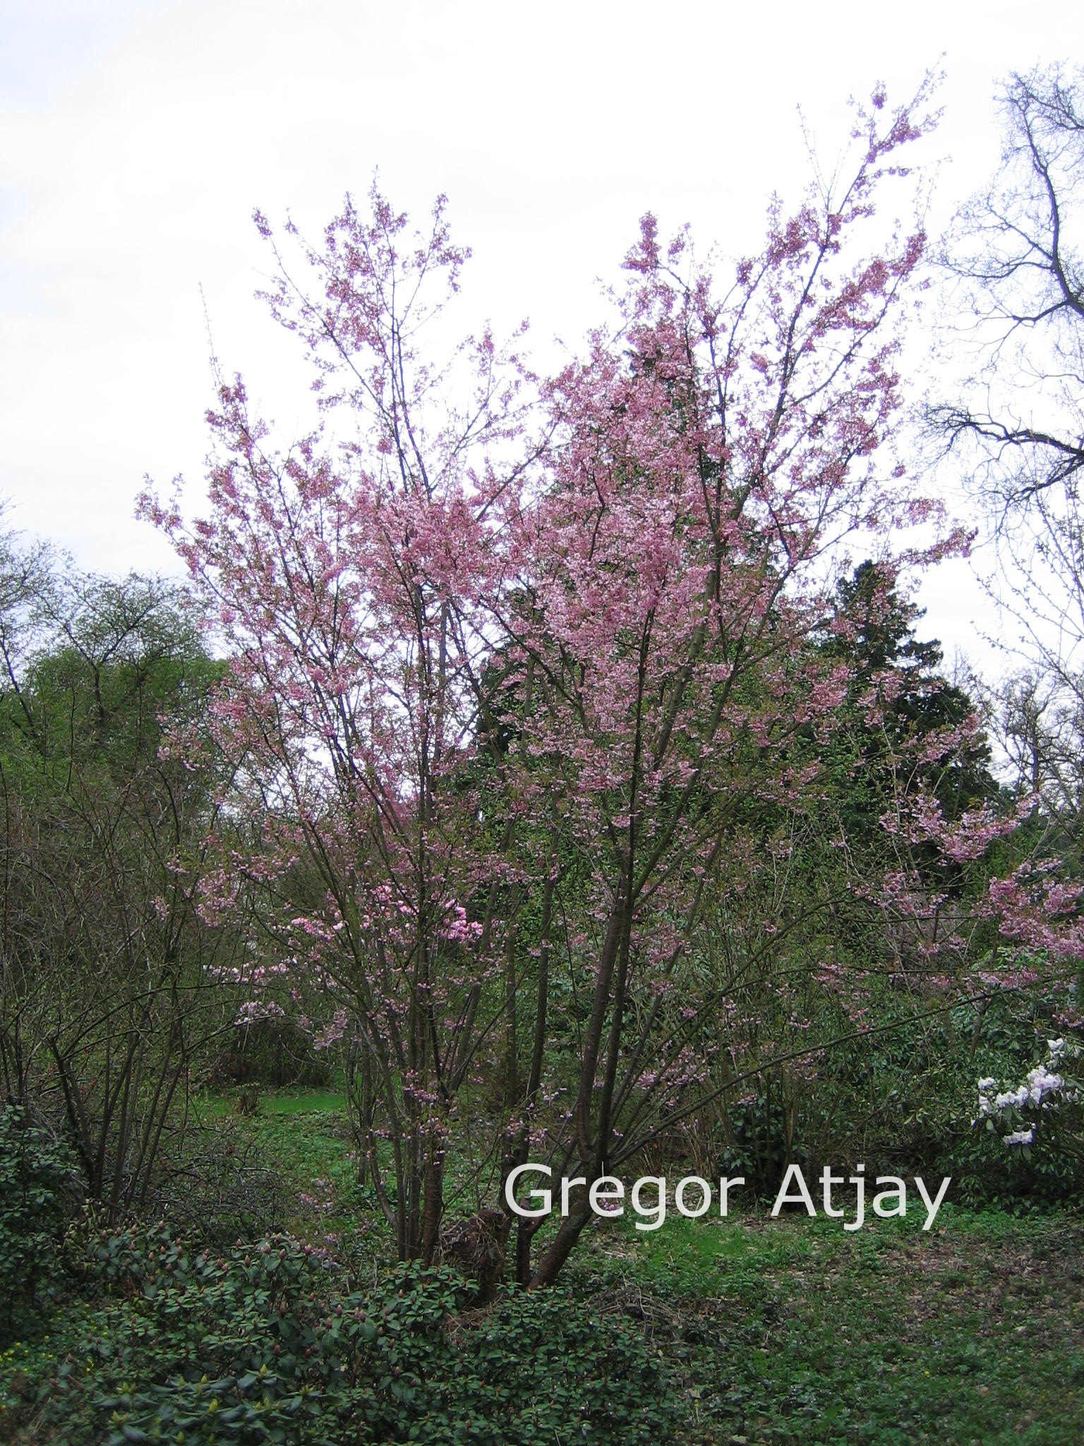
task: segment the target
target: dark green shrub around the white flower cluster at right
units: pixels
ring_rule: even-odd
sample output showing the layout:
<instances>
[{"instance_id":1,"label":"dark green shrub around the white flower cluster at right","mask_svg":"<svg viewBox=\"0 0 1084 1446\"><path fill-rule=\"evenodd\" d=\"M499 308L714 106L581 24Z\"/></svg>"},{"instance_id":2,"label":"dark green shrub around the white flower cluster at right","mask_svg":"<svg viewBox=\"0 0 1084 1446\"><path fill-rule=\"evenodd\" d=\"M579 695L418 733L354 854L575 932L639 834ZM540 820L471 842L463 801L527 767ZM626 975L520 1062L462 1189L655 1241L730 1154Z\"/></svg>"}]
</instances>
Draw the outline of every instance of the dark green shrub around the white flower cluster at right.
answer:
<instances>
[{"instance_id":1,"label":"dark green shrub around the white flower cluster at right","mask_svg":"<svg viewBox=\"0 0 1084 1446\"><path fill-rule=\"evenodd\" d=\"M728 1108L715 1125L717 1174L741 1176L770 1199L792 1161L806 1176L863 1161L870 1174L951 1176L951 1197L973 1207L1048 1209L1083 1197L1071 1105L1044 1112L1032 1150L1007 1148L986 1121L973 1124L978 1079L1026 1077L1058 1032L1057 999L1005 992L925 1018L886 989L872 1002L889 1028L827 1051L815 1076L789 1089L766 1070L770 1087Z\"/></svg>"}]
</instances>

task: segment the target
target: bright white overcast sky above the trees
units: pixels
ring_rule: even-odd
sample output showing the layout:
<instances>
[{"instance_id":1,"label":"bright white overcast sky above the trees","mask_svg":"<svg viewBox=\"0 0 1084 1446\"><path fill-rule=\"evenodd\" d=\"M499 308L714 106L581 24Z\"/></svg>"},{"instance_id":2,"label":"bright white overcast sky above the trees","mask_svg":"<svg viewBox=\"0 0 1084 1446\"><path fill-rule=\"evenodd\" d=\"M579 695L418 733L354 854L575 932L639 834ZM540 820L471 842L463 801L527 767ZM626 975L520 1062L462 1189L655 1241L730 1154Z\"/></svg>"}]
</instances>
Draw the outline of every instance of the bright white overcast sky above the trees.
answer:
<instances>
[{"instance_id":1,"label":"bright white overcast sky above the trees","mask_svg":"<svg viewBox=\"0 0 1084 1446\"><path fill-rule=\"evenodd\" d=\"M529 315L543 354L598 315L645 210L754 247L806 178L798 104L831 162L850 94L900 101L944 64L937 224L996 163L997 81L1081 55L1072 0L0 0L0 495L84 567L173 570L133 500L145 473L202 490L201 286L225 370L282 431L305 412L251 296L254 205L315 234L376 166L419 220L445 191L464 325ZM963 564L922 600L950 656L981 654Z\"/></svg>"}]
</instances>

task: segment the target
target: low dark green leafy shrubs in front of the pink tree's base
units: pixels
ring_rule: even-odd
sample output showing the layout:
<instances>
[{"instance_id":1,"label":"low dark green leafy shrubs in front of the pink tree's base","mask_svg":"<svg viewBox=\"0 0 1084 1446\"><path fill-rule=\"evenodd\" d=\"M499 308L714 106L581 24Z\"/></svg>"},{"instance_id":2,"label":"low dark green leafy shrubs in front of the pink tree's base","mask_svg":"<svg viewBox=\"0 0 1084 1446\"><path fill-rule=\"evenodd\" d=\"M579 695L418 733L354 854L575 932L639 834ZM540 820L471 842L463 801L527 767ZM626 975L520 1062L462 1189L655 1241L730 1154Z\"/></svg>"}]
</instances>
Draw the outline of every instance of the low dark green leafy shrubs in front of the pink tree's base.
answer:
<instances>
[{"instance_id":1,"label":"low dark green leafy shrubs in front of the pink tree's base","mask_svg":"<svg viewBox=\"0 0 1084 1446\"><path fill-rule=\"evenodd\" d=\"M658 1356L555 1291L471 1312L461 1277L412 1267L347 1291L285 1235L215 1255L113 1231L91 1254L108 1299L48 1395L71 1446L669 1439Z\"/></svg>"}]
</instances>

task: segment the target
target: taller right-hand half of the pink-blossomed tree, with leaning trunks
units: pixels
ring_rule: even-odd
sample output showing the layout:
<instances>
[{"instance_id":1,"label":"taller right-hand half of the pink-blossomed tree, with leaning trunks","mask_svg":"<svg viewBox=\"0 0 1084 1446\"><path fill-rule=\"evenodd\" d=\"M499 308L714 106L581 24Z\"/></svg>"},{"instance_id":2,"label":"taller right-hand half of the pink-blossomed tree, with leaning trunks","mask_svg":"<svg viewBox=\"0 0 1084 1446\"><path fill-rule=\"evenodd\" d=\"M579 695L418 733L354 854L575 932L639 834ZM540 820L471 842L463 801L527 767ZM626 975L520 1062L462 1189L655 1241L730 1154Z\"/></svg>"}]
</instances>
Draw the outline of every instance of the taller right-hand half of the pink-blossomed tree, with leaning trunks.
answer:
<instances>
[{"instance_id":1,"label":"taller right-hand half of the pink-blossomed tree, with leaning trunks","mask_svg":"<svg viewBox=\"0 0 1084 1446\"><path fill-rule=\"evenodd\" d=\"M516 519L528 583L500 622L532 690L538 826L555 811L590 860L572 947L591 999L561 1137L585 1186L538 1281L590 1218L585 1187L704 1083L694 1040L718 1001L689 944L740 876L750 808L817 798L821 766L796 737L830 732L847 690L846 667L809 646L847 539L883 549L890 529L939 521L883 461L893 318L924 237L874 256L856 243L924 123L911 110L879 127L882 106L860 116L850 182L793 217L773 208L763 253L721 292L688 237L663 247L648 217L619 324L546 389L549 479Z\"/></svg>"}]
</instances>

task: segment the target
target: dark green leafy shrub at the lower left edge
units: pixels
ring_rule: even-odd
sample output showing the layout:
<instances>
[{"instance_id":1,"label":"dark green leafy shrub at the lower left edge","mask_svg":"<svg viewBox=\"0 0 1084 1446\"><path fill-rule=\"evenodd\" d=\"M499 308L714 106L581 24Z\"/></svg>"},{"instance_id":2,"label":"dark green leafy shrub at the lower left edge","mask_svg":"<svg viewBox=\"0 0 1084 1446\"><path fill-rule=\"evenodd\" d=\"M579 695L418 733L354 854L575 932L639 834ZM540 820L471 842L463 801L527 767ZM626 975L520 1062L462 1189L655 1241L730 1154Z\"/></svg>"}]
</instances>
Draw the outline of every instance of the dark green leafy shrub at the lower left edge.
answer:
<instances>
[{"instance_id":1,"label":"dark green leafy shrub at the lower left edge","mask_svg":"<svg viewBox=\"0 0 1084 1446\"><path fill-rule=\"evenodd\" d=\"M75 1160L22 1105L0 1111L0 1345L48 1296L75 1194Z\"/></svg>"}]
</instances>

